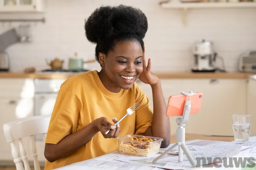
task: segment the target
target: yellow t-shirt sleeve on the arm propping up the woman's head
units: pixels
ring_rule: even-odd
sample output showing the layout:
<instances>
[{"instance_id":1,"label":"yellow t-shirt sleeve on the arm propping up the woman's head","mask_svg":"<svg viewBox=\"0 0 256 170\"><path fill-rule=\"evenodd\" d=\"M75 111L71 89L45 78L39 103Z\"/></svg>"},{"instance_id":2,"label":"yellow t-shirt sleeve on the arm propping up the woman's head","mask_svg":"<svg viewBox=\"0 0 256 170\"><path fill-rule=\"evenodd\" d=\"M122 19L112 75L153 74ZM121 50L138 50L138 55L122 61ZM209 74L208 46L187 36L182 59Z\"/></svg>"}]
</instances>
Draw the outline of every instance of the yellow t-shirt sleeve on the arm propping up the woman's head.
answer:
<instances>
[{"instance_id":1,"label":"yellow t-shirt sleeve on the arm propping up the woman's head","mask_svg":"<svg viewBox=\"0 0 256 170\"><path fill-rule=\"evenodd\" d=\"M148 97L138 85L136 85L136 102L140 103L140 107L136 110L135 134L143 135L148 127L152 126L153 111Z\"/></svg>"}]
</instances>

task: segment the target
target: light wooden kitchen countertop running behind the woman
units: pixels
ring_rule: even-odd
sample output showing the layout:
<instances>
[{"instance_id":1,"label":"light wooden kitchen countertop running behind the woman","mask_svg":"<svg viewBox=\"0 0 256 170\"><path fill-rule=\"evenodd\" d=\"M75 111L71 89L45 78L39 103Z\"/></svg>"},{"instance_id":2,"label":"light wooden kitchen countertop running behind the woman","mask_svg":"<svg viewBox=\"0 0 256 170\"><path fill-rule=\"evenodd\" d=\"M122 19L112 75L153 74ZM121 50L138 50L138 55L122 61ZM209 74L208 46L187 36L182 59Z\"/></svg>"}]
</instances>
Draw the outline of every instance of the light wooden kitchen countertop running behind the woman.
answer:
<instances>
[{"instance_id":1,"label":"light wooden kitchen countertop running behind the woman","mask_svg":"<svg viewBox=\"0 0 256 170\"><path fill-rule=\"evenodd\" d=\"M192 72L154 72L161 79L245 79L252 73L192 73ZM255 73L256 74L256 73ZM0 72L0 78L67 79L76 73L16 73Z\"/></svg>"}]
</instances>

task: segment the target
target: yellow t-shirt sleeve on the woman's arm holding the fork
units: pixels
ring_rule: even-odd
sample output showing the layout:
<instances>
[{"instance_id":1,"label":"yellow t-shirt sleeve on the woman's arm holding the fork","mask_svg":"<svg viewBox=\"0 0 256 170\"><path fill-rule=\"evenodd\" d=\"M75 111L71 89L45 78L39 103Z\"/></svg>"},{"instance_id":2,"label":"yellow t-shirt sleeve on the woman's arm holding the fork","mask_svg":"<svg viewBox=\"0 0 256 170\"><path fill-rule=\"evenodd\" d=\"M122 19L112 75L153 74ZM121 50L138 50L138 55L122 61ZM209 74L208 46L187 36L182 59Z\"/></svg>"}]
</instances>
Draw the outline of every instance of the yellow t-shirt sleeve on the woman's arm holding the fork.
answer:
<instances>
[{"instance_id":1,"label":"yellow t-shirt sleeve on the woman's arm holding the fork","mask_svg":"<svg viewBox=\"0 0 256 170\"><path fill-rule=\"evenodd\" d=\"M57 144L68 134L77 130L81 103L70 91L58 92L50 124L46 134L46 143Z\"/></svg>"}]
</instances>

